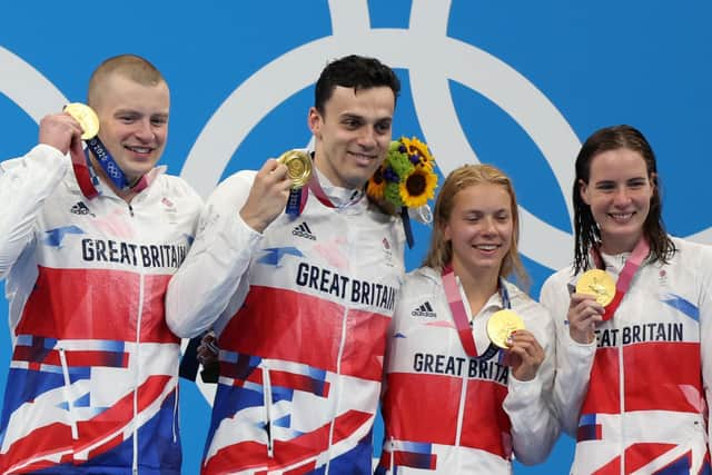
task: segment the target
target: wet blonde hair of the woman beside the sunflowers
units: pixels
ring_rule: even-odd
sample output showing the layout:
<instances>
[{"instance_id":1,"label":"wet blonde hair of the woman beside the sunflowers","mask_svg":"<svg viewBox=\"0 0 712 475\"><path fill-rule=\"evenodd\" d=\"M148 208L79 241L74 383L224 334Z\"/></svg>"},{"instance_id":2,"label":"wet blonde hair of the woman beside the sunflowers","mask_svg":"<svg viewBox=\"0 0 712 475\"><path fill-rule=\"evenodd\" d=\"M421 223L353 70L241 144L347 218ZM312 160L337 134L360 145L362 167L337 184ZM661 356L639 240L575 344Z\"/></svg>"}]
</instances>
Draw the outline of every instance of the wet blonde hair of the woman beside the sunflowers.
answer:
<instances>
[{"instance_id":1,"label":"wet blonde hair of the woman beside the sunflowers","mask_svg":"<svg viewBox=\"0 0 712 475\"><path fill-rule=\"evenodd\" d=\"M436 270L443 270L443 267L452 261L453 244L445 239L445 227L453 214L455 197L465 188L483 184L500 186L510 195L510 207L512 208L512 243L510 250L502 260L500 277L514 274L518 284L526 286L528 284L528 276L517 250L520 241L520 214L516 195L514 194L514 187L512 186L510 177L492 165L465 165L456 168L447 176L435 201L431 248L423 265Z\"/></svg>"}]
</instances>

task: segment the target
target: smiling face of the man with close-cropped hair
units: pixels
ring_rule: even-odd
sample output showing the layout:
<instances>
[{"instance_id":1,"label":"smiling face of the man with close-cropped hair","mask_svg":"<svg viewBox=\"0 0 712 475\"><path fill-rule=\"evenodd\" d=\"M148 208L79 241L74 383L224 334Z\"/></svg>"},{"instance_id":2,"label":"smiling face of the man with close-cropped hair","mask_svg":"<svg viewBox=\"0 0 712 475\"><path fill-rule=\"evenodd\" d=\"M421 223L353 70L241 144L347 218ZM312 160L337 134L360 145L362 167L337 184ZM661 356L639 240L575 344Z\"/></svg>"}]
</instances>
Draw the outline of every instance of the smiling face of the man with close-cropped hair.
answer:
<instances>
[{"instance_id":1,"label":"smiling face of the man with close-cropped hair","mask_svg":"<svg viewBox=\"0 0 712 475\"><path fill-rule=\"evenodd\" d=\"M170 95L166 82L145 86L112 73L102 80L91 106L99 116L99 138L129 182L150 171L168 137Z\"/></svg>"}]
</instances>

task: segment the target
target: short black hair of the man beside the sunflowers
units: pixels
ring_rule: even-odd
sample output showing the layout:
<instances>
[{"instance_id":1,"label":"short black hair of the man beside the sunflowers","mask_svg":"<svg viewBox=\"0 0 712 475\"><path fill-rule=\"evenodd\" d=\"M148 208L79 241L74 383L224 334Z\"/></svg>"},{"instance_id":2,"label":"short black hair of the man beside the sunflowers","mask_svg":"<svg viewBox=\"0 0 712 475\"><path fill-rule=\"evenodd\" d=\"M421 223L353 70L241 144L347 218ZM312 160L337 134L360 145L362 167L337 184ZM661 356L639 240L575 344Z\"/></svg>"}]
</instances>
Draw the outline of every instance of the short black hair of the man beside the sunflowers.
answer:
<instances>
[{"instance_id":1,"label":"short black hair of the man beside the sunflowers","mask_svg":"<svg viewBox=\"0 0 712 475\"><path fill-rule=\"evenodd\" d=\"M388 87L394 100L400 92L400 81L393 69L375 58L350 55L329 62L316 81L314 107L324 115L324 106L332 98L337 86L360 89Z\"/></svg>"}]
</instances>

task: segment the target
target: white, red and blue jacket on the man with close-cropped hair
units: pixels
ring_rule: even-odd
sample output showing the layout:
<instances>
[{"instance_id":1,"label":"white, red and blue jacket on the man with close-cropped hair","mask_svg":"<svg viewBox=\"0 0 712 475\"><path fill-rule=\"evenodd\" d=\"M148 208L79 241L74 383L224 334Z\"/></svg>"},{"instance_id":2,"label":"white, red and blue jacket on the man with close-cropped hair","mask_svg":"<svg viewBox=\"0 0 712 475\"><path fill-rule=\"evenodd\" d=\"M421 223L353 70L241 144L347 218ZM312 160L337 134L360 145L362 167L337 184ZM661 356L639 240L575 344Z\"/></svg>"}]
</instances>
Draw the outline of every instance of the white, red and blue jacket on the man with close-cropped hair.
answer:
<instances>
[{"instance_id":1,"label":"white, red and blue jacket on the man with close-cropped hair","mask_svg":"<svg viewBox=\"0 0 712 475\"><path fill-rule=\"evenodd\" d=\"M164 296L201 200L159 169L150 180L127 205L103 184L86 199L49 146L0 164L13 340L1 473L180 473L179 339Z\"/></svg>"}]
</instances>

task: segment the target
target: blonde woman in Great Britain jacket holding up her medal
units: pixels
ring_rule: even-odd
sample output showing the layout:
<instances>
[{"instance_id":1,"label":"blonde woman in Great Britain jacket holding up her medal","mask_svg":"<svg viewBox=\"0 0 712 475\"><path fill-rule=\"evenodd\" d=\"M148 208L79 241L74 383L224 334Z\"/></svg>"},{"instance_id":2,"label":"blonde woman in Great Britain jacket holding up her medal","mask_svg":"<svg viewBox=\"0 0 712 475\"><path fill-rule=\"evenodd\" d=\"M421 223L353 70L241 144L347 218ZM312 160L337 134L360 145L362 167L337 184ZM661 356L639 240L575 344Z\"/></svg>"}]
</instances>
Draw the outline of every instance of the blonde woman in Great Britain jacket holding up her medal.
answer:
<instances>
[{"instance_id":1,"label":"blonde woman in Great Britain jacket holding up her medal","mask_svg":"<svg viewBox=\"0 0 712 475\"><path fill-rule=\"evenodd\" d=\"M526 280L512 182L488 165L461 167L434 215L427 258L407 276L389 328L376 473L511 474L513 457L542 462L558 435L547 398L553 323L505 280ZM486 331L503 309L526 327L506 349Z\"/></svg>"}]
</instances>

